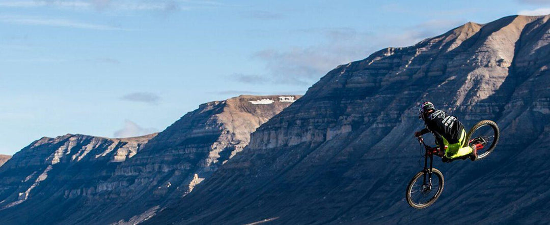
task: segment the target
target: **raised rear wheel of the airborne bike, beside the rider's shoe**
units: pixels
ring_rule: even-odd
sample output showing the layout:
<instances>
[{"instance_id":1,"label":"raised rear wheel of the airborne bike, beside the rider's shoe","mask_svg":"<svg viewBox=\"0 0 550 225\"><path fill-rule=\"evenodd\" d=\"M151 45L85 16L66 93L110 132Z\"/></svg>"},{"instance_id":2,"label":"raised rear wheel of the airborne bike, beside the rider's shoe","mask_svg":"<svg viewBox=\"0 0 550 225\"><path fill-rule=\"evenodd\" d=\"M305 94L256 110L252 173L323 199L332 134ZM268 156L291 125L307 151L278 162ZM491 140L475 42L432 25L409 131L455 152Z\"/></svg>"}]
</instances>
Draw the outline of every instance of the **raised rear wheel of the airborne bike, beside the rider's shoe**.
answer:
<instances>
[{"instance_id":1,"label":"raised rear wheel of the airborne bike, beside the rider's shoe","mask_svg":"<svg viewBox=\"0 0 550 225\"><path fill-rule=\"evenodd\" d=\"M468 144L475 144L476 142L484 142L482 149L477 149L477 158L480 160L486 158L497 146L500 131L498 130L497 123L491 120L482 120L477 122L466 135L466 139L469 140Z\"/></svg>"}]
</instances>

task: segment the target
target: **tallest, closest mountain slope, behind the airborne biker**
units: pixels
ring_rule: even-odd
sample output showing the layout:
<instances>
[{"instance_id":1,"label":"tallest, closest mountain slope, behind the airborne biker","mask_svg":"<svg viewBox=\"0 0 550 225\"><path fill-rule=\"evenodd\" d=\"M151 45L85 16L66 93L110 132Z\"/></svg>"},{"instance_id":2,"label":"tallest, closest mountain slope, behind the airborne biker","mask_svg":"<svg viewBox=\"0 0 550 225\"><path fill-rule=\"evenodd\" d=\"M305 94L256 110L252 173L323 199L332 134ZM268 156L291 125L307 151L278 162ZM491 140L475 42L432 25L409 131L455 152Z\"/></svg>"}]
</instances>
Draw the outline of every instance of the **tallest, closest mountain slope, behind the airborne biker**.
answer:
<instances>
[{"instance_id":1,"label":"tallest, closest mountain slope, behind the airborne biker","mask_svg":"<svg viewBox=\"0 0 550 225\"><path fill-rule=\"evenodd\" d=\"M547 223L550 15L468 22L340 65L151 224ZM425 100L466 127L496 121L486 160L455 161L425 210L405 201L422 170L412 138Z\"/></svg>"}]
</instances>

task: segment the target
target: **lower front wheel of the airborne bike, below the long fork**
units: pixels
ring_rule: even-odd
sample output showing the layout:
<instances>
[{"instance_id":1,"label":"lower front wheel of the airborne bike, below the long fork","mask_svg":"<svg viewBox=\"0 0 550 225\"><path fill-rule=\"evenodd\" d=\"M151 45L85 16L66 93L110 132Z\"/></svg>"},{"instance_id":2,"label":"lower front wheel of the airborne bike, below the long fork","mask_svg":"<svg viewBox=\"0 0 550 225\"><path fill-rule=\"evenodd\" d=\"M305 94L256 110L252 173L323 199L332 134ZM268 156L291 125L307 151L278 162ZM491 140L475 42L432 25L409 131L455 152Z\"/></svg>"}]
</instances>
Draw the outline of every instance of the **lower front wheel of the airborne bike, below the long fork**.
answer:
<instances>
[{"instance_id":1,"label":"lower front wheel of the airborne bike, below the long fork","mask_svg":"<svg viewBox=\"0 0 550 225\"><path fill-rule=\"evenodd\" d=\"M407 186L407 203L415 209L424 209L436 202L443 192L443 173L432 168L432 173L420 171L412 177Z\"/></svg>"}]
</instances>

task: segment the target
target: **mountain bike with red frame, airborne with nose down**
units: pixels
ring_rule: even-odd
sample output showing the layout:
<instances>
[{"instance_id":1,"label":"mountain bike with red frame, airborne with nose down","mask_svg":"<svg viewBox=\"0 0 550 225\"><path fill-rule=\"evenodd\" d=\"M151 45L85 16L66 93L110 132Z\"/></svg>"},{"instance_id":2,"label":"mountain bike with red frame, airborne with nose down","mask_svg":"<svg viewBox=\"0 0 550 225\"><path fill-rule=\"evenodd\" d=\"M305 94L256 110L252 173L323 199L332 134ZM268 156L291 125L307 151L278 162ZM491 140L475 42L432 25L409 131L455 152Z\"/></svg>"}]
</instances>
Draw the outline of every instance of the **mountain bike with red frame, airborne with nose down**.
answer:
<instances>
[{"instance_id":1,"label":"mountain bike with red frame, airborne with nose down","mask_svg":"<svg viewBox=\"0 0 550 225\"><path fill-rule=\"evenodd\" d=\"M497 123L491 120L482 120L477 122L470 131L466 134L468 144L482 144L481 149L477 149L477 160L485 159L498 143L499 130ZM415 209L425 209L432 205L443 192L444 179L443 173L433 168L433 156L439 156L439 148L430 147L424 143L424 139L420 136L417 138L421 147L424 147L424 169L414 177L412 177L409 185L407 185L406 199L407 203ZM446 149L447 147L445 147ZM441 157L441 156L439 156ZM428 160L429 159L429 160ZM467 155L449 160L448 162L467 159ZM428 161L429 166L428 166Z\"/></svg>"}]
</instances>

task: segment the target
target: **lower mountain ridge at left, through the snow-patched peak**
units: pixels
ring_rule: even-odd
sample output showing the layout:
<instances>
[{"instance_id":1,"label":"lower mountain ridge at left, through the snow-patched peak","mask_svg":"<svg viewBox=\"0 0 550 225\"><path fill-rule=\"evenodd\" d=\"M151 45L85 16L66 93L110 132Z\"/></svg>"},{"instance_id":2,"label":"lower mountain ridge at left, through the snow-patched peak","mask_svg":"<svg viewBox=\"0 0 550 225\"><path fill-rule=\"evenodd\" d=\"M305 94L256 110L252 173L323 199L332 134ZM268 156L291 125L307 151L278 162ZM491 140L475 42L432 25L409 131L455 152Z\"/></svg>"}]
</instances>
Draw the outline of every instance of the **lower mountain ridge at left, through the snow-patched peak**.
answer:
<instances>
[{"instance_id":1,"label":"lower mountain ridge at left, through the snow-patched peak","mask_svg":"<svg viewBox=\"0 0 550 225\"><path fill-rule=\"evenodd\" d=\"M0 167L2 224L133 224L180 201L299 96L202 104L158 134L42 138Z\"/></svg>"}]
</instances>

